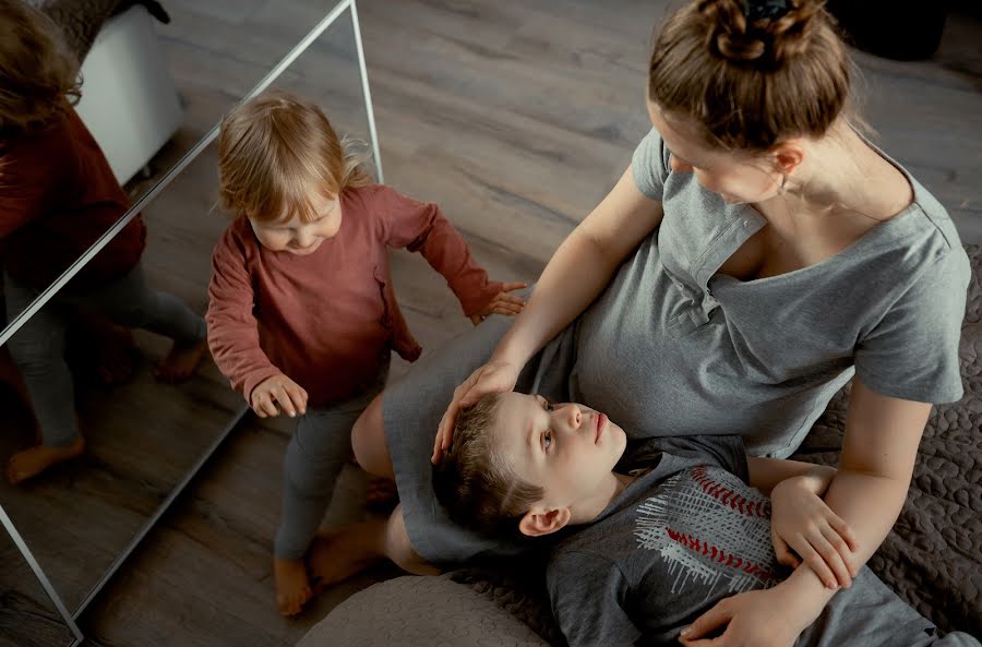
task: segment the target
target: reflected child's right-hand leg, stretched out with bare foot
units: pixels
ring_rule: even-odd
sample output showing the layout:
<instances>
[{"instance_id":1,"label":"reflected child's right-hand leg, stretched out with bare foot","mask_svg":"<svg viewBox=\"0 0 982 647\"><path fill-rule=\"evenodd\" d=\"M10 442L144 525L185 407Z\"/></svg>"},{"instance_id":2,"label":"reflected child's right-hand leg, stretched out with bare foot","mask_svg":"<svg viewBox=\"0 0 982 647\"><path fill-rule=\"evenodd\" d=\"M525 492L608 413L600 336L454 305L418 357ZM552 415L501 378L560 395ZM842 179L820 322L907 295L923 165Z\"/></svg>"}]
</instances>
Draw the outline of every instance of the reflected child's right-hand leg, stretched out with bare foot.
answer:
<instances>
[{"instance_id":1,"label":"reflected child's right-hand leg, stretched out with bare foot","mask_svg":"<svg viewBox=\"0 0 982 647\"><path fill-rule=\"evenodd\" d=\"M86 297L83 305L127 327L173 339L170 352L157 367L157 376L165 382L190 378L208 350L204 319L173 295L152 289L140 265Z\"/></svg>"}]
</instances>

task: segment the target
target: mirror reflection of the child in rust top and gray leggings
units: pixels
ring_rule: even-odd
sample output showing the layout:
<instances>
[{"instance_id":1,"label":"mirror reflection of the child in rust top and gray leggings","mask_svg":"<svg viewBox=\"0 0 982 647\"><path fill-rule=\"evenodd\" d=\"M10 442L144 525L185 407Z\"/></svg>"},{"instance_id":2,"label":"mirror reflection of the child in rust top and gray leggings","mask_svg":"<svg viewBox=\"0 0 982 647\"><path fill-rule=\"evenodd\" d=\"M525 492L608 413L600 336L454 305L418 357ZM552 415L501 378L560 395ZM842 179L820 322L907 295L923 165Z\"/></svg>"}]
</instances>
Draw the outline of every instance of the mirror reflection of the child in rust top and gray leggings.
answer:
<instances>
[{"instance_id":1,"label":"mirror reflection of the child in rust top and gray leggings","mask_svg":"<svg viewBox=\"0 0 982 647\"><path fill-rule=\"evenodd\" d=\"M0 0L0 259L8 321L130 207L72 107L80 93L79 64L58 28L22 0ZM146 284L140 263L145 238L137 216L8 343L39 436L10 459L12 483L85 450L64 359L75 317L170 337L173 345L157 368L164 381L190 376L206 354L204 319Z\"/></svg>"}]
</instances>

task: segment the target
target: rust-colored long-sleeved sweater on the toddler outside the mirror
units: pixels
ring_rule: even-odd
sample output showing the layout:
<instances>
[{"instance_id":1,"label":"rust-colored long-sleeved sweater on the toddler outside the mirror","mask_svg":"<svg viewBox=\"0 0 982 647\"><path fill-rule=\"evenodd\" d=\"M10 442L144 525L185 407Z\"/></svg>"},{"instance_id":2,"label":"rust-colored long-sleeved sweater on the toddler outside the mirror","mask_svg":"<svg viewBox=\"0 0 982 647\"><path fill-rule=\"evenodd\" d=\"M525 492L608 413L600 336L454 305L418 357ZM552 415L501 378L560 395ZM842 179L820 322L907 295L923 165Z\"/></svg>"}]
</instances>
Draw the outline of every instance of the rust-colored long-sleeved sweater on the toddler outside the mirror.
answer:
<instances>
[{"instance_id":1,"label":"rust-colored long-sleeved sweater on the toddler outside the mirror","mask_svg":"<svg viewBox=\"0 0 982 647\"><path fill-rule=\"evenodd\" d=\"M344 190L340 209L337 235L310 255L267 250L244 217L215 247L208 345L247 400L282 371L307 390L310 406L330 405L371 386L391 349L419 357L396 303L387 248L420 252L465 315L501 291L435 204L373 184Z\"/></svg>"}]
</instances>

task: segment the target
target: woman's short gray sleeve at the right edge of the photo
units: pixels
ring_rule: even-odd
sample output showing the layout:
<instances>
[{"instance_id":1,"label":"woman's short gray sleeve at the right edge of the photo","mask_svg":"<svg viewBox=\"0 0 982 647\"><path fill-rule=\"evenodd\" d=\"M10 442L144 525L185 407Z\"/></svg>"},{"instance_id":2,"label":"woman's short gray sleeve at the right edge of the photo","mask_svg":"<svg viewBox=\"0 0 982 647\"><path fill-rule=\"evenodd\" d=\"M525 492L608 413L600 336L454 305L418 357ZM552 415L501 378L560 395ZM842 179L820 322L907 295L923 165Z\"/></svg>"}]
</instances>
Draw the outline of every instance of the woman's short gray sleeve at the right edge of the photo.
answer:
<instances>
[{"instance_id":1,"label":"woman's short gray sleeve at the right edge of the photo","mask_svg":"<svg viewBox=\"0 0 982 647\"><path fill-rule=\"evenodd\" d=\"M922 403L961 398L958 345L971 276L961 249L925 267L855 349L855 374L889 397Z\"/></svg>"}]
</instances>

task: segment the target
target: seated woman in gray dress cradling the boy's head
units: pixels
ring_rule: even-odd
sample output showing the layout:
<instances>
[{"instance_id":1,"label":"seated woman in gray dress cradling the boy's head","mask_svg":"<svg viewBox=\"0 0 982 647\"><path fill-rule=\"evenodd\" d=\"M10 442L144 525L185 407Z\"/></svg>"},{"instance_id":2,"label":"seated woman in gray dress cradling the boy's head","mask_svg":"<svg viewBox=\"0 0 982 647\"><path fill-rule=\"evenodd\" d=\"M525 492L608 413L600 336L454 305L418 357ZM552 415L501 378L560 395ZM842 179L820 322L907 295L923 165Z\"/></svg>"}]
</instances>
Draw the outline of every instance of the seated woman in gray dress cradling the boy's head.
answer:
<instances>
[{"instance_id":1,"label":"seated woman in gray dress cradling the boy's head","mask_svg":"<svg viewBox=\"0 0 982 647\"><path fill-rule=\"evenodd\" d=\"M489 321L426 358L359 419L359 463L394 475L402 503L387 523L322 541L311 563L324 579L380 554L428 572L510 549L446 520L421 446L475 367L433 460L462 406L516 385L637 435L735 432L785 457L854 374L826 503L859 549L847 564L821 535L776 539L848 582L899 514L930 403L961 396L969 280L944 208L850 124L850 70L817 0L696 0L672 15L649 67L654 130L514 325L498 339L506 324ZM789 602L817 615L835 589L809 568L793 577L806 592ZM728 624L715 644L790 645L800 627L773 614L735 596L687 638Z\"/></svg>"}]
</instances>

